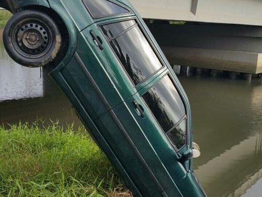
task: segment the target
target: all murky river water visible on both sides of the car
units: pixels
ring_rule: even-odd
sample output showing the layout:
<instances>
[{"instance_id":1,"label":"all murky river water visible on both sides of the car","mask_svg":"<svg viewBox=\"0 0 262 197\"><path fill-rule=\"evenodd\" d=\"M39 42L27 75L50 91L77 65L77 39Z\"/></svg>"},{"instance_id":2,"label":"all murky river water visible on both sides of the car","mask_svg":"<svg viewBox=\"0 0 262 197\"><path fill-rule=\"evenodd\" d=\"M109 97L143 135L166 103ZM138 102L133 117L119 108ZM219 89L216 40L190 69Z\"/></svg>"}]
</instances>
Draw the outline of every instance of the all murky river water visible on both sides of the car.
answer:
<instances>
[{"instance_id":1,"label":"all murky river water visible on both sides of the car","mask_svg":"<svg viewBox=\"0 0 262 197\"><path fill-rule=\"evenodd\" d=\"M194 169L208 196L261 197L261 79L199 72L179 78L191 102L194 141L202 153ZM0 124L41 118L81 125L46 71L17 65L0 40Z\"/></svg>"}]
</instances>

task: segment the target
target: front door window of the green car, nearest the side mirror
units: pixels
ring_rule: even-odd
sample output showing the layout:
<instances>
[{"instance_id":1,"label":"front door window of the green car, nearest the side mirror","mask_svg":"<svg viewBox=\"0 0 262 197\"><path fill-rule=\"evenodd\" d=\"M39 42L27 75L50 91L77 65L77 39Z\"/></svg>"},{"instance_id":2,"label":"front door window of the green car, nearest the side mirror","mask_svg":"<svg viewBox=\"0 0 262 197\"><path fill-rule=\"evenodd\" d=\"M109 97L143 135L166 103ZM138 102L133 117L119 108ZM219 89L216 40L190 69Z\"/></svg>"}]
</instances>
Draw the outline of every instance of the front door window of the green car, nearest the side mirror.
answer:
<instances>
[{"instance_id":1,"label":"front door window of the green car, nearest the side mirror","mask_svg":"<svg viewBox=\"0 0 262 197\"><path fill-rule=\"evenodd\" d=\"M147 106L169 140L180 149L186 143L184 103L169 75L165 75L143 96Z\"/></svg>"}]
</instances>

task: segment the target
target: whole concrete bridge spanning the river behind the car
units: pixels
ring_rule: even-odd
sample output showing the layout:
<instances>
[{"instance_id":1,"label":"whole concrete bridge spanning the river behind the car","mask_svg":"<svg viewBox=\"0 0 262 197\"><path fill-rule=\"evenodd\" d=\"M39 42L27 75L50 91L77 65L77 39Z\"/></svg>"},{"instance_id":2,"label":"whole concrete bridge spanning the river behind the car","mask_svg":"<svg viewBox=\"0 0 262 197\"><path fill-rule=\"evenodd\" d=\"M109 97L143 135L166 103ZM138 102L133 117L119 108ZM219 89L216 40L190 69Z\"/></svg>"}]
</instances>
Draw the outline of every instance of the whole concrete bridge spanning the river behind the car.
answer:
<instances>
[{"instance_id":1,"label":"whole concrete bridge spanning the river behind the car","mask_svg":"<svg viewBox=\"0 0 262 197\"><path fill-rule=\"evenodd\" d=\"M262 73L262 0L130 1L171 64Z\"/></svg>"}]
</instances>

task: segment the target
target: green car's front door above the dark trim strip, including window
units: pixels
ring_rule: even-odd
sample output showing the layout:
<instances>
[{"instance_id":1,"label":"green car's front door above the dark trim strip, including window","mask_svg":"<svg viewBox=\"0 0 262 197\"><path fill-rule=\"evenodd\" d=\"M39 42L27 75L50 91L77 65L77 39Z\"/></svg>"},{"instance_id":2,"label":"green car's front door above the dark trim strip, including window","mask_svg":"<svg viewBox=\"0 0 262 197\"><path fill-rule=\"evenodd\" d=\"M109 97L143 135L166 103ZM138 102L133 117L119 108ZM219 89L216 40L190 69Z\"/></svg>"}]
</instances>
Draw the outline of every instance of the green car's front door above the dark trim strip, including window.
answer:
<instances>
[{"instance_id":1,"label":"green car's front door above the dark trim strip, including window","mask_svg":"<svg viewBox=\"0 0 262 197\"><path fill-rule=\"evenodd\" d=\"M190 125L170 73L160 77L114 112L167 196L173 197L180 193L178 183L187 176L183 154L190 150Z\"/></svg>"}]
</instances>

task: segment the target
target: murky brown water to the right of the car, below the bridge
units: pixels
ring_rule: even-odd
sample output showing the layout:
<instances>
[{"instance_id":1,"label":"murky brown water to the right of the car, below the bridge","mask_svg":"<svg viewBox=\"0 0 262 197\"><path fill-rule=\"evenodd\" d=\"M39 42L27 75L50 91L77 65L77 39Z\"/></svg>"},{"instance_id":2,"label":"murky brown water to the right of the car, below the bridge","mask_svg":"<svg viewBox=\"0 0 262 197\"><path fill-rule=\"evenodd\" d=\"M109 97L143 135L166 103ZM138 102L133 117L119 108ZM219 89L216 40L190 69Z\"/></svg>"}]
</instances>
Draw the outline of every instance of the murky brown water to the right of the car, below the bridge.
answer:
<instances>
[{"instance_id":1,"label":"murky brown water to the right of the car, below the bridge","mask_svg":"<svg viewBox=\"0 0 262 197\"><path fill-rule=\"evenodd\" d=\"M249 189L260 197L262 188L256 193L251 187L262 178L260 79L179 78L191 102L194 141L201 147L194 168L208 196L241 197Z\"/></svg>"}]
</instances>

